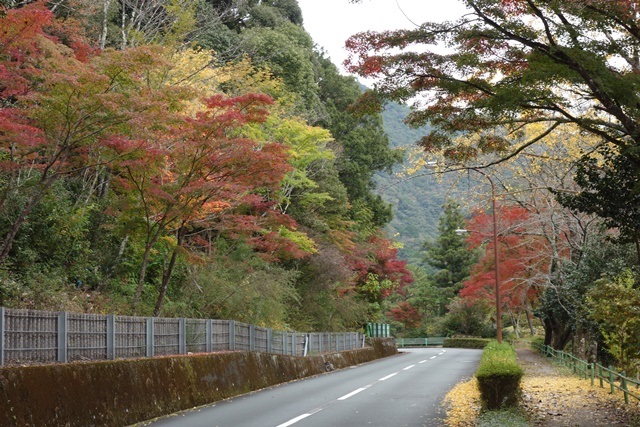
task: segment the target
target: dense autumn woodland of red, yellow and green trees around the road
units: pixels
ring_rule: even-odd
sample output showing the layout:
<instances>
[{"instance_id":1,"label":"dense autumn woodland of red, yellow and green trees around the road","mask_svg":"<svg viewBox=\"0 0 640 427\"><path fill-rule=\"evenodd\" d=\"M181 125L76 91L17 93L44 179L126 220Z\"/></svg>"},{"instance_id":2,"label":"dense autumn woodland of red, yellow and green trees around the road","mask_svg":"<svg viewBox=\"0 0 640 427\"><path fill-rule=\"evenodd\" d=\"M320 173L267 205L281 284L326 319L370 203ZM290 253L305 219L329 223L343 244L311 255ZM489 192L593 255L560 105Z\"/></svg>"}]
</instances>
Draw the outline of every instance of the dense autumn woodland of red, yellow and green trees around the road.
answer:
<instances>
[{"instance_id":1,"label":"dense autumn woodland of red, yellow and green trees around the road","mask_svg":"<svg viewBox=\"0 0 640 427\"><path fill-rule=\"evenodd\" d=\"M354 35L364 93L296 0L0 4L0 305L489 337L497 249L507 336L636 369L636 1Z\"/></svg>"}]
</instances>

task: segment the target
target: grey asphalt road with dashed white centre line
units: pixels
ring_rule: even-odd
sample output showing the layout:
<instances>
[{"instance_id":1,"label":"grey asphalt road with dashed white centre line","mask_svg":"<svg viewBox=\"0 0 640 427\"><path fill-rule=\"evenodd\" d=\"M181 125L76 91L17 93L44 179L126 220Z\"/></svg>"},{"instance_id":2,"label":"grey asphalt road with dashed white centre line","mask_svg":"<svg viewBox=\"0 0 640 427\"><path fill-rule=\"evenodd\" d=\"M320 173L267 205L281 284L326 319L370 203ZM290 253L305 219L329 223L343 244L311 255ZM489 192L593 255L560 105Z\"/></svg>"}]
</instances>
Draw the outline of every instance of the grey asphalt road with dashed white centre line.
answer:
<instances>
[{"instance_id":1,"label":"grey asphalt road with dashed white centre line","mask_svg":"<svg viewBox=\"0 0 640 427\"><path fill-rule=\"evenodd\" d=\"M441 426L446 393L481 350L405 349L397 356L174 414L154 427Z\"/></svg>"}]
</instances>

